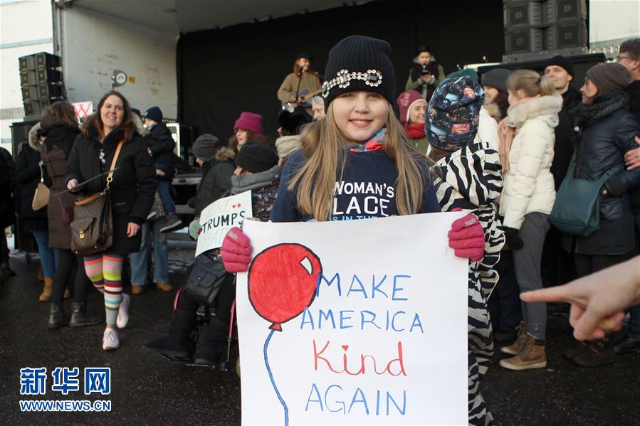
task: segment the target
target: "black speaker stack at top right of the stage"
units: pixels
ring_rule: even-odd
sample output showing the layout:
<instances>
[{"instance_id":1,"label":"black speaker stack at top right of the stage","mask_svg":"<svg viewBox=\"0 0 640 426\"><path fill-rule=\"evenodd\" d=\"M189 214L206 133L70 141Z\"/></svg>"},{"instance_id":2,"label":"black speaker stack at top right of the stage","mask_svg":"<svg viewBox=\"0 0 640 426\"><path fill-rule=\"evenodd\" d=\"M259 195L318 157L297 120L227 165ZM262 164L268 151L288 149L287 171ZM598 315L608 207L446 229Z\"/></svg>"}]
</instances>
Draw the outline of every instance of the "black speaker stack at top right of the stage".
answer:
<instances>
[{"instance_id":1,"label":"black speaker stack at top right of the stage","mask_svg":"<svg viewBox=\"0 0 640 426\"><path fill-rule=\"evenodd\" d=\"M587 53L586 0L504 0L504 63Z\"/></svg>"}]
</instances>

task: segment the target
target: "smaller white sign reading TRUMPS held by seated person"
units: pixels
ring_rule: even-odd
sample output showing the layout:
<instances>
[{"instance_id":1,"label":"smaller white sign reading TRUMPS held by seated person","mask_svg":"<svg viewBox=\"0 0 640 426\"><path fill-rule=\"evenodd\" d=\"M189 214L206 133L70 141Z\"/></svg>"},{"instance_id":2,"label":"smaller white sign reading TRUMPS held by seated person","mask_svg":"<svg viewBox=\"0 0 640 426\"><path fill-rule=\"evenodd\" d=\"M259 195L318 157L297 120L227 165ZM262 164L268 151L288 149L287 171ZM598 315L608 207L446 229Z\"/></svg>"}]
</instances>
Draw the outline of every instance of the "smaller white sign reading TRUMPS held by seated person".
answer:
<instances>
[{"instance_id":1,"label":"smaller white sign reading TRUMPS held by seated person","mask_svg":"<svg viewBox=\"0 0 640 426\"><path fill-rule=\"evenodd\" d=\"M196 256L207 250L220 248L224 235L234 226L240 226L246 218L253 217L251 191L220 198L206 206L200 213L202 232L198 236Z\"/></svg>"}]
</instances>

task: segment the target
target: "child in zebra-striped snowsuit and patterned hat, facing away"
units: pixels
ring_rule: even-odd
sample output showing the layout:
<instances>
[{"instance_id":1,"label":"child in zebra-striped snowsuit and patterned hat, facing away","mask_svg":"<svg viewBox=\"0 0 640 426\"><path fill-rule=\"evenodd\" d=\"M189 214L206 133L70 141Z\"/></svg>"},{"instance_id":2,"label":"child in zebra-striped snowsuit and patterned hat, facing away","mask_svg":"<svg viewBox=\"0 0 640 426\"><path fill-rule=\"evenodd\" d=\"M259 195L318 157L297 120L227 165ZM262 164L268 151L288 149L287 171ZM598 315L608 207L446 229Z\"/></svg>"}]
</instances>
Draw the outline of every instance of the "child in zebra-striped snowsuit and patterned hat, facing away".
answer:
<instances>
[{"instance_id":1,"label":"child in zebra-striped snowsuit and patterned hat, facing away","mask_svg":"<svg viewBox=\"0 0 640 426\"><path fill-rule=\"evenodd\" d=\"M448 78L431 97L426 119L429 158L436 162L434 186L440 207L443 211L461 208L476 214L486 238L483 259L469 264L468 401L469 422L474 425L493 420L478 387L493 356L487 304L498 282L495 265L505 243L496 204L503 183L498 151L489 142L474 142L483 95L471 77Z\"/></svg>"}]
</instances>

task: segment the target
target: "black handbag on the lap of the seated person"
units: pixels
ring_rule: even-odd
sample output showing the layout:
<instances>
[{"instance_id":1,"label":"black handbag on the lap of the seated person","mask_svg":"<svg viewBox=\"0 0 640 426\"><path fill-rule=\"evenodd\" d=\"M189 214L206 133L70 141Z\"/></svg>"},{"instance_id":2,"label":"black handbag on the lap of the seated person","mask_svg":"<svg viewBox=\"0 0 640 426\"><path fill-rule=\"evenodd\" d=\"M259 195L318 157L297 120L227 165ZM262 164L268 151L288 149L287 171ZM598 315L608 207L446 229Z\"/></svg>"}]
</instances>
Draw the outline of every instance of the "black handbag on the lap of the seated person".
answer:
<instances>
[{"instance_id":1,"label":"black handbag on the lap of the seated person","mask_svg":"<svg viewBox=\"0 0 640 426\"><path fill-rule=\"evenodd\" d=\"M183 291L195 302L211 307L229 275L231 274L224 269L221 256L212 257L202 253L196 257Z\"/></svg>"}]
</instances>

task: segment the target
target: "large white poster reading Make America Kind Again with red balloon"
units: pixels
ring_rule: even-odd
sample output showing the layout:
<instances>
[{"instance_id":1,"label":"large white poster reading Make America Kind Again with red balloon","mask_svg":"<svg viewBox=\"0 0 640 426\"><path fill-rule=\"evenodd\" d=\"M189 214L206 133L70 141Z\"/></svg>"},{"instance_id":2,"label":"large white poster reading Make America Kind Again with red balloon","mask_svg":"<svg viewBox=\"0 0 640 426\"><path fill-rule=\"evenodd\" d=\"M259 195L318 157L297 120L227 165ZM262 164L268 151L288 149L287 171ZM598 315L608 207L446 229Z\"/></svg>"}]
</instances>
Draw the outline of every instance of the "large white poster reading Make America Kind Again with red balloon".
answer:
<instances>
[{"instance_id":1,"label":"large white poster reading Make America Kind Again with red balloon","mask_svg":"<svg viewBox=\"0 0 640 426\"><path fill-rule=\"evenodd\" d=\"M466 425L463 213L260 223L238 273L243 425Z\"/></svg>"}]
</instances>

